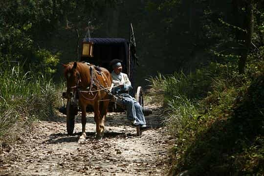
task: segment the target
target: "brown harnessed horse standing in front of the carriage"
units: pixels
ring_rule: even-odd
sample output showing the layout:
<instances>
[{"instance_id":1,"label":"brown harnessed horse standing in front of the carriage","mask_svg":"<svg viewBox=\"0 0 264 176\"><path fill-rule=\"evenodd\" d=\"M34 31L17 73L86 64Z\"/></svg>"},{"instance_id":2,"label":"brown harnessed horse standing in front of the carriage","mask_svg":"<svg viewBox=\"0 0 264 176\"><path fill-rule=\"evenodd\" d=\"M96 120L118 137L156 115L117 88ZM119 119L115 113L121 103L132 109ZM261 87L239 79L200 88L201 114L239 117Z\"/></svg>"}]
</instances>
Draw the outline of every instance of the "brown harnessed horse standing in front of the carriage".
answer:
<instances>
[{"instance_id":1,"label":"brown harnessed horse standing in front of the carriage","mask_svg":"<svg viewBox=\"0 0 264 176\"><path fill-rule=\"evenodd\" d=\"M78 94L79 106L82 109L82 135L79 141L86 139L86 108L91 105L96 122L96 137L104 135L105 117L109 106L109 90L112 84L110 72L103 67L95 67L86 63L68 63L65 67L67 80L66 97L72 98Z\"/></svg>"}]
</instances>

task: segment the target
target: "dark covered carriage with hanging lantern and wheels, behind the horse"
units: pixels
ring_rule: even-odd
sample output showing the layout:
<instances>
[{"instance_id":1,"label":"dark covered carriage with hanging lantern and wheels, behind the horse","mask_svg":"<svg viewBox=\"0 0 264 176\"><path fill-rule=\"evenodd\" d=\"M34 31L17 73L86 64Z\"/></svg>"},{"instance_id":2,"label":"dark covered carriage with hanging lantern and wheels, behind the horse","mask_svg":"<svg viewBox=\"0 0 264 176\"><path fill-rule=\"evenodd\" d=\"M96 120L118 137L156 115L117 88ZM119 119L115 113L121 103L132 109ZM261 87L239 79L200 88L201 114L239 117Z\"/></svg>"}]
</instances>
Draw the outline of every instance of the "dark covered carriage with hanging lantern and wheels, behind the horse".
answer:
<instances>
[{"instance_id":1,"label":"dark covered carriage with hanging lantern and wheels, behind the horse","mask_svg":"<svg viewBox=\"0 0 264 176\"><path fill-rule=\"evenodd\" d=\"M132 27L132 25L131 25ZM131 28L132 29L132 28ZM132 82L133 95L136 101L144 106L144 91L142 87L134 86L134 72L137 63L135 53L135 41L132 35L130 39L122 38L90 38L86 37L82 40L82 54L80 62L88 63L89 65L100 66L107 68L110 72L112 68L110 61L119 59L122 61L123 72L126 73ZM110 92L108 92L110 93ZM78 114L78 99L67 98L66 92L63 92L63 98L67 99L67 104L61 112L66 114L67 133L72 134L74 131L75 115ZM92 108L88 107L88 111ZM120 112L124 111L122 107L118 106L116 99L111 99L109 104L109 111ZM147 109L146 113L150 114L151 110Z\"/></svg>"}]
</instances>

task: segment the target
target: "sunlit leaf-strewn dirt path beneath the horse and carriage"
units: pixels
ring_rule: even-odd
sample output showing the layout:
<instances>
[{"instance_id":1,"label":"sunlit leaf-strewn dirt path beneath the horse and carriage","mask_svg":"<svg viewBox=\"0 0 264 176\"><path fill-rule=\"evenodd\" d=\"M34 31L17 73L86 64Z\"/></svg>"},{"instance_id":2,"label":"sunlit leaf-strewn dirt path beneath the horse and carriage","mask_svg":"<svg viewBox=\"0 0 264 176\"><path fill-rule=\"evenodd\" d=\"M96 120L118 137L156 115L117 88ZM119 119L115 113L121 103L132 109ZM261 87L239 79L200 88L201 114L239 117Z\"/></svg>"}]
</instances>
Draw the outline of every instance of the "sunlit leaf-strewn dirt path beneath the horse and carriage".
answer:
<instances>
[{"instance_id":1,"label":"sunlit leaf-strewn dirt path beneath the horse and carriage","mask_svg":"<svg viewBox=\"0 0 264 176\"><path fill-rule=\"evenodd\" d=\"M66 133L66 117L40 121L35 132L0 151L0 175L26 176L136 176L164 175L168 138L161 128L158 108L146 117L154 128L136 136L125 113L109 113L105 137L95 139L93 114L87 114L87 140L79 144L80 116L75 135Z\"/></svg>"}]
</instances>

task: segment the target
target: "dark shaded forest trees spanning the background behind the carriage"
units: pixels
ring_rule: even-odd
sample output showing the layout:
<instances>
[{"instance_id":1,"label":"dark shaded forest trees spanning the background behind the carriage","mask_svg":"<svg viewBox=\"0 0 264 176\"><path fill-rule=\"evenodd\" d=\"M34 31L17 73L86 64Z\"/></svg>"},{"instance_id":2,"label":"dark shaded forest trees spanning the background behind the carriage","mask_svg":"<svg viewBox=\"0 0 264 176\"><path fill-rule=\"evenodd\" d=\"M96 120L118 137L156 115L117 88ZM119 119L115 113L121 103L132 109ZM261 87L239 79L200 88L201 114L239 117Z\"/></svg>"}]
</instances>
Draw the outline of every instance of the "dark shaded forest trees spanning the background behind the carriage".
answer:
<instances>
[{"instance_id":1,"label":"dark shaded forest trees spanning the background behind the carriage","mask_svg":"<svg viewBox=\"0 0 264 176\"><path fill-rule=\"evenodd\" d=\"M76 29L83 38L88 21L92 37L112 38L128 38L133 23L140 84L211 61L236 63L242 73L263 46L262 0L5 0L0 7L0 57L46 72L59 58L76 60Z\"/></svg>"}]
</instances>

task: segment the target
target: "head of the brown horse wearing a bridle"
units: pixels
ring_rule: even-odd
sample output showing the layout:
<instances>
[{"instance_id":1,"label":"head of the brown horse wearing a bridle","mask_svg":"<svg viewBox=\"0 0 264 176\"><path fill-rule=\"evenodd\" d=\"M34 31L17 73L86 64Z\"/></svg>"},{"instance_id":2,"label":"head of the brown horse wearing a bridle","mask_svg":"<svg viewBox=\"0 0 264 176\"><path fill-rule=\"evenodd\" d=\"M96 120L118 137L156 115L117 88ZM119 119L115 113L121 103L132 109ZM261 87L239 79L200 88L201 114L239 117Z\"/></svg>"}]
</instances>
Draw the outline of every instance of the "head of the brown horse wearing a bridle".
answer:
<instances>
[{"instance_id":1,"label":"head of the brown horse wearing a bridle","mask_svg":"<svg viewBox=\"0 0 264 176\"><path fill-rule=\"evenodd\" d=\"M69 63L67 65L63 65L65 67L64 76L67 81L67 98L71 98L73 96L73 92L77 89L80 73L77 69L77 62Z\"/></svg>"}]
</instances>

